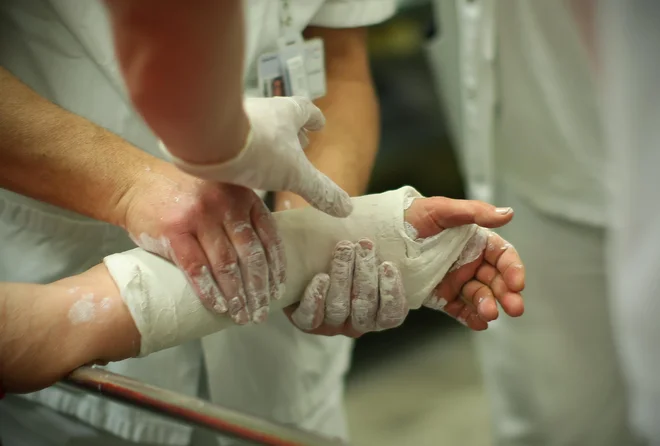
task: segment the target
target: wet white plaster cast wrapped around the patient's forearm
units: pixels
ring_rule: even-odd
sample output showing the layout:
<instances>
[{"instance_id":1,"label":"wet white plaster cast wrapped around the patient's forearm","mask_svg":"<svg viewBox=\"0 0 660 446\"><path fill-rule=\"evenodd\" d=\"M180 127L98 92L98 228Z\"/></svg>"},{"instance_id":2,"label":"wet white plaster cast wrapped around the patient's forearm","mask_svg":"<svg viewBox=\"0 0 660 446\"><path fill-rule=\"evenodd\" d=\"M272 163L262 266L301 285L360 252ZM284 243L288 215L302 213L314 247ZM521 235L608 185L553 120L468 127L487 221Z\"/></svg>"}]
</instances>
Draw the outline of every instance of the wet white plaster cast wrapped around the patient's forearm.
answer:
<instances>
[{"instance_id":1,"label":"wet white plaster cast wrapped around the patient's forearm","mask_svg":"<svg viewBox=\"0 0 660 446\"><path fill-rule=\"evenodd\" d=\"M477 226L450 228L423 241L409 237L404 207L421 195L411 187L353 199L347 218L312 207L274 214L288 261L286 289L271 311L298 302L311 279L326 272L339 241L372 240L381 261L397 264L411 309L419 308L440 283ZM142 336L140 355L197 339L234 325L207 311L176 266L142 249L104 259Z\"/></svg>"}]
</instances>

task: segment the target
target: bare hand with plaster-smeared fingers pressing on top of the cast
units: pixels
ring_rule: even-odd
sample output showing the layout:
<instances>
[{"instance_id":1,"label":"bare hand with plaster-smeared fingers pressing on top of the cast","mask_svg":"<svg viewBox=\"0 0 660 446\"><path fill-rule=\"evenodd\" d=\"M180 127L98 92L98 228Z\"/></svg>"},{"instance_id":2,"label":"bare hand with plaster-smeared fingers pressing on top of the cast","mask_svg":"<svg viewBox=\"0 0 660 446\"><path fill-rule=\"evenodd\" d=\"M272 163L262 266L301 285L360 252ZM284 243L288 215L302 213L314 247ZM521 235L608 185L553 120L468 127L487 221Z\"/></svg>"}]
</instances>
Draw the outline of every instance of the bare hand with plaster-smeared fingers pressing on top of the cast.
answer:
<instances>
[{"instance_id":1,"label":"bare hand with plaster-smeared fingers pressing on top of the cast","mask_svg":"<svg viewBox=\"0 0 660 446\"><path fill-rule=\"evenodd\" d=\"M176 264L207 309L237 324L267 318L270 300L283 294L286 260L274 219L252 190L158 162L125 202L131 238Z\"/></svg>"}]
</instances>

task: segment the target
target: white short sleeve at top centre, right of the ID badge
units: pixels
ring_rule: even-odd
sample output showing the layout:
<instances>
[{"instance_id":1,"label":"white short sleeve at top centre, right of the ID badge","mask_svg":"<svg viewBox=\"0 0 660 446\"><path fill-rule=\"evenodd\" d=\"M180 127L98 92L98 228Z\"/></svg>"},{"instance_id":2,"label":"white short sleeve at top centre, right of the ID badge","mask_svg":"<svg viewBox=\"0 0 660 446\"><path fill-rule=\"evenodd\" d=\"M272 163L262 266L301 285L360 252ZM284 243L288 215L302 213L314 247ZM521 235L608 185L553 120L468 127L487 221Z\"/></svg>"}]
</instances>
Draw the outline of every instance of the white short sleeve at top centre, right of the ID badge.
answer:
<instances>
[{"instance_id":1,"label":"white short sleeve at top centre, right of the ID badge","mask_svg":"<svg viewBox=\"0 0 660 446\"><path fill-rule=\"evenodd\" d=\"M357 28L383 22L396 12L396 0L326 0L310 25Z\"/></svg>"}]
</instances>

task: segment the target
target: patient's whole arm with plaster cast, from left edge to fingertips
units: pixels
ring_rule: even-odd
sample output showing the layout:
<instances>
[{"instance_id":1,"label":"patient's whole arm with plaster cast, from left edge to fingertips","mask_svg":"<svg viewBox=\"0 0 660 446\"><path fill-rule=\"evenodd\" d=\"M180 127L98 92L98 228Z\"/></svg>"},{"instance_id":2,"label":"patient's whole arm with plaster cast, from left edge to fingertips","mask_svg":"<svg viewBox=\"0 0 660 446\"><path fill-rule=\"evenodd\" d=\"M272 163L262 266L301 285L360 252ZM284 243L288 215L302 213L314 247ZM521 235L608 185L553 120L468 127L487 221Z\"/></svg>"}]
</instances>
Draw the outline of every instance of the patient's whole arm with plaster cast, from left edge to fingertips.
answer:
<instances>
[{"instance_id":1,"label":"patient's whole arm with plaster cast, from left edge to fingertips","mask_svg":"<svg viewBox=\"0 0 660 446\"><path fill-rule=\"evenodd\" d=\"M485 232L485 244L476 257L445 274L449 266L456 266L463 242L479 240L475 234L483 229L444 228L461 221L481 222L481 216L454 211L441 220L437 215L442 213L436 211L446 205L443 199L415 200L405 212L406 221L414 223L419 237L430 238L414 242L404 230L399 231L402 225L395 221L400 217L403 223L409 197L394 191L359 199L349 219L368 219L368 227L358 221L332 219L311 208L313 213L308 215L313 219L301 217L304 210L276 214L289 246L287 257L298 274L288 278L285 297L275 305L285 307L298 300L309 276L327 270L332 249L326 245L336 243L334 238L355 241L367 236L379 246L383 260L399 265L411 308L443 309L446 305L447 313L476 329L475 324L497 316L495 300L508 314L522 314L519 291L524 286L524 270L515 250ZM490 221L499 226L510 218ZM439 231L448 237L434 238ZM438 244L455 245L456 249L444 250L447 258L443 259ZM119 265L122 262L124 266ZM106 264L109 269L97 265L49 285L0 284L0 388L38 390L79 366L146 355L233 325L231 318L203 308L180 271L158 256L137 249L110 256ZM480 297L485 298L481 303ZM473 317L475 320L470 319Z\"/></svg>"}]
</instances>

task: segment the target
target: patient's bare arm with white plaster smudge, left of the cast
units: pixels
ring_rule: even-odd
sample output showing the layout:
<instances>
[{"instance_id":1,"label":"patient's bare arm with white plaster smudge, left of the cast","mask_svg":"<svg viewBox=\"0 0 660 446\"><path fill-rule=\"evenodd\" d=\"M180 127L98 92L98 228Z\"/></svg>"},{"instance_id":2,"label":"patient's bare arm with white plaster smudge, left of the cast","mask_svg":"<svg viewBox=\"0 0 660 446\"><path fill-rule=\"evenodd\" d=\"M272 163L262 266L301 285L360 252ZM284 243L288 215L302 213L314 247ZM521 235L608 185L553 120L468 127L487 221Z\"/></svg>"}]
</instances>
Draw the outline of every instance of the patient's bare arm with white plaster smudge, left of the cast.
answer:
<instances>
[{"instance_id":1,"label":"patient's bare arm with white plaster smudge, left of the cast","mask_svg":"<svg viewBox=\"0 0 660 446\"><path fill-rule=\"evenodd\" d=\"M49 285L0 284L0 388L30 392L74 369L136 356L140 334L97 265Z\"/></svg>"}]
</instances>

